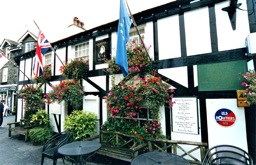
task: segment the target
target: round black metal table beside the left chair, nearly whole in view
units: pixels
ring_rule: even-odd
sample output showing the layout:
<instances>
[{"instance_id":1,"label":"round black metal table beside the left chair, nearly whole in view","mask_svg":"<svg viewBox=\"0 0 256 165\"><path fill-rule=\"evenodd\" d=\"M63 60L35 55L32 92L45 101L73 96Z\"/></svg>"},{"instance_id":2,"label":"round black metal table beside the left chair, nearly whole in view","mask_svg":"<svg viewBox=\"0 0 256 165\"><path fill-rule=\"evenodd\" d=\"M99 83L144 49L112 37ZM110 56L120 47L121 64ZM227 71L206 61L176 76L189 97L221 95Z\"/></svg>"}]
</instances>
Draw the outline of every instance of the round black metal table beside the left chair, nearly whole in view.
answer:
<instances>
[{"instance_id":1,"label":"round black metal table beside the left chair, nearly whole in view","mask_svg":"<svg viewBox=\"0 0 256 165\"><path fill-rule=\"evenodd\" d=\"M73 142L66 144L64 146L61 146L58 149L58 153L64 155L65 157L73 160L76 165L82 165L86 164L86 161L88 158L90 158L92 155L98 152L98 150L101 148L101 144L94 141L81 141L81 142ZM86 158L86 160L82 160L82 155L85 154L91 154ZM75 157L75 159L73 158Z\"/></svg>"}]
</instances>

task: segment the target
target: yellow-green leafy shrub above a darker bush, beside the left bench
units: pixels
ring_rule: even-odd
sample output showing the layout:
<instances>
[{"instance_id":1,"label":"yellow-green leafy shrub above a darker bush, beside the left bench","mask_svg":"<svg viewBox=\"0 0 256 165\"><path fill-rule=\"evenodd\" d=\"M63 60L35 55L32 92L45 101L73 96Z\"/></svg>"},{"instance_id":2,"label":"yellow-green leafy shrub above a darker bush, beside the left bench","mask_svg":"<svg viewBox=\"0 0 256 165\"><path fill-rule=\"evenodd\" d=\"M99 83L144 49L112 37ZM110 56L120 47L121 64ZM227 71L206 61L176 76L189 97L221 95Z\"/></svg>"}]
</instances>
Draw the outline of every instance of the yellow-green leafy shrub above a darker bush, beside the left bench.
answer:
<instances>
[{"instance_id":1,"label":"yellow-green leafy shrub above a darker bush, beside the left bench","mask_svg":"<svg viewBox=\"0 0 256 165\"><path fill-rule=\"evenodd\" d=\"M45 110L38 111L32 116L31 122L35 123L37 127L50 127L50 115Z\"/></svg>"}]
</instances>

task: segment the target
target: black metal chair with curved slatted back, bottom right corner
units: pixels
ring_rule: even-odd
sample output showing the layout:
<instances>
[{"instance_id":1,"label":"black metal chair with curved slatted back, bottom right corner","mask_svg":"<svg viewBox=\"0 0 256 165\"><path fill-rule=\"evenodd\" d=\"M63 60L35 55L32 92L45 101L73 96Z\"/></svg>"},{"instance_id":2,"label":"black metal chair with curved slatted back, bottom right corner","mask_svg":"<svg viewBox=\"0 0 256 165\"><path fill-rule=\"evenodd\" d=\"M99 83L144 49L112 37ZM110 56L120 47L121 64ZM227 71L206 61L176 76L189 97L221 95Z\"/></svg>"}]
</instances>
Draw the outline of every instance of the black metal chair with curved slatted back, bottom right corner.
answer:
<instances>
[{"instance_id":1,"label":"black metal chair with curved slatted back, bottom right corner","mask_svg":"<svg viewBox=\"0 0 256 165\"><path fill-rule=\"evenodd\" d=\"M201 165L208 164L253 165L251 156L245 150L230 145L219 145L209 149Z\"/></svg>"}]
</instances>

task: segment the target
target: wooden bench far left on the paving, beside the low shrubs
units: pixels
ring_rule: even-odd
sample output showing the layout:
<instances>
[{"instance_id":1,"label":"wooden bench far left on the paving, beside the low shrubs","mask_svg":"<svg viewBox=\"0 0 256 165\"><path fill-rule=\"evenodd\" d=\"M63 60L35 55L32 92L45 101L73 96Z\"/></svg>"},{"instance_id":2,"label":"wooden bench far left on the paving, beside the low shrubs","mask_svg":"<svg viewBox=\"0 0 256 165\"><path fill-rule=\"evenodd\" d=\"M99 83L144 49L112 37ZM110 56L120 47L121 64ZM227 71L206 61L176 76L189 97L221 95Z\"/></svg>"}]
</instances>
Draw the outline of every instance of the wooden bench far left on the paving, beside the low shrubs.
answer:
<instances>
[{"instance_id":1,"label":"wooden bench far left on the paving, beside the low shrubs","mask_svg":"<svg viewBox=\"0 0 256 165\"><path fill-rule=\"evenodd\" d=\"M9 125L9 128L8 128L9 137L11 137L11 132L16 132L18 134L25 135L25 142L27 142L28 141L27 135L29 133L29 129L35 126L34 123L30 121L31 120L21 118L20 121L18 122L7 123L7 125ZM18 124L18 123L19 123L19 127L12 128L12 124Z\"/></svg>"}]
</instances>

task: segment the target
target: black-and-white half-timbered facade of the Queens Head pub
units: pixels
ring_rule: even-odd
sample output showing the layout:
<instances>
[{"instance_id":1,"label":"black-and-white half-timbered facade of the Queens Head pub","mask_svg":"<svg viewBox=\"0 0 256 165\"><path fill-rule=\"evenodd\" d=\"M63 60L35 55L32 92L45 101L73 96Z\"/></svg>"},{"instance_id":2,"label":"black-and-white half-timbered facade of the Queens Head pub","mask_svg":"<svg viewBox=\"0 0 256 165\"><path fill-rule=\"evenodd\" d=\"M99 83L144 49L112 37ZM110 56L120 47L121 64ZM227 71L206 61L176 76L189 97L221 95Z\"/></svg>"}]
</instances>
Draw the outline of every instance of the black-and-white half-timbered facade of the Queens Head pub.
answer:
<instances>
[{"instance_id":1,"label":"black-and-white half-timbered facade of the Queens Head pub","mask_svg":"<svg viewBox=\"0 0 256 165\"><path fill-rule=\"evenodd\" d=\"M233 2L233 0L231 0ZM224 0L177 0L168 4L134 14L138 29L145 37L145 44L152 46L150 56L157 61L158 76L172 85L175 96L197 96L199 113L199 134L187 134L171 131L171 113L168 108L162 108L162 126L164 134L171 135L172 140L207 142L209 148L229 144L240 147L256 158L256 112L255 106L238 107L236 90L209 90L199 91L197 66L215 62L228 62L246 60L248 69L254 69L256 58L246 55L245 38L256 32L256 15L254 1L238 0L240 4L236 9L236 20L230 21L228 12L222 10L229 6L230 1ZM199 4L199 5L197 5ZM130 8L132 4L129 4ZM246 11L248 10L248 11ZM232 26L233 24L233 26ZM235 24L235 30L234 30ZM104 71L107 65L97 62L96 44L107 41L110 53L115 54L111 48L117 45L118 20L93 29L78 33L52 43L61 61L76 58L76 47L82 45L86 53L79 58L89 59L88 78L83 80L86 96L83 100L83 109L98 115L99 124L107 119L103 96L106 96L111 87L111 78ZM136 38L133 25L130 33ZM51 55L50 55L51 54ZM48 57L45 57L47 56ZM32 61L35 50L17 56L19 67L31 77ZM61 62L54 52L48 51L43 59L51 59L53 76L52 84L65 80L60 75ZM48 64L44 60L43 64ZM225 76L216 75L216 77ZM116 75L116 82L122 75ZM17 88L24 84L31 84L19 72ZM45 92L51 90L46 86ZM17 100L17 120L22 118L21 98ZM237 116L236 123L231 127L221 127L216 124L214 114L221 108L232 109ZM55 132L63 130L64 117L72 108L63 105L46 105L51 116L51 123ZM56 110L57 109L57 110Z\"/></svg>"}]
</instances>

